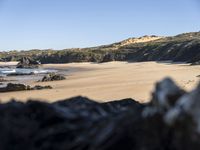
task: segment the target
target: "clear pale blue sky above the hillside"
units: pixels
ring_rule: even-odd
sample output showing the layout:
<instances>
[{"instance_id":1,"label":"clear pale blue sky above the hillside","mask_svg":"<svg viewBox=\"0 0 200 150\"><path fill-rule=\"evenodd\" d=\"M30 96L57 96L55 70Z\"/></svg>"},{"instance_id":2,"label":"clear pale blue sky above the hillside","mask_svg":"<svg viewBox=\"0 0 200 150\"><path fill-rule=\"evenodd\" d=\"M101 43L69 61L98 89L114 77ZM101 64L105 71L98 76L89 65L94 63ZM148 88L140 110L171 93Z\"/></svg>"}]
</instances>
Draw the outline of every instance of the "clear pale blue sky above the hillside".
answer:
<instances>
[{"instance_id":1,"label":"clear pale blue sky above the hillside","mask_svg":"<svg viewBox=\"0 0 200 150\"><path fill-rule=\"evenodd\" d=\"M0 0L0 51L200 31L200 0Z\"/></svg>"}]
</instances>

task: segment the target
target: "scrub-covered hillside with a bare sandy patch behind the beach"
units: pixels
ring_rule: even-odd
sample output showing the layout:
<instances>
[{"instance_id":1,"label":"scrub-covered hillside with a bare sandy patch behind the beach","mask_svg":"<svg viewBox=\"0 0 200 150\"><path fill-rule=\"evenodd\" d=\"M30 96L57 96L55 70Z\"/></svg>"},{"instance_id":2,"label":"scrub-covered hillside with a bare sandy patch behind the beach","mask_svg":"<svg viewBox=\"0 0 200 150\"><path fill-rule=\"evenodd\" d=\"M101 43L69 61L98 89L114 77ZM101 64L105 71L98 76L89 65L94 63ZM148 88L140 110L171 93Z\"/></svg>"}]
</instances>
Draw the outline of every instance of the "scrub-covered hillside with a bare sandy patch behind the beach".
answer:
<instances>
[{"instance_id":1,"label":"scrub-covered hillside with a bare sandy patch behind the beach","mask_svg":"<svg viewBox=\"0 0 200 150\"><path fill-rule=\"evenodd\" d=\"M32 57L42 63L108 62L108 61L200 61L200 32L171 37L143 36L90 48L64 50L30 50L1 52L2 61Z\"/></svg>"}]
</instances>

